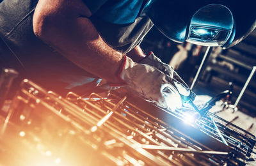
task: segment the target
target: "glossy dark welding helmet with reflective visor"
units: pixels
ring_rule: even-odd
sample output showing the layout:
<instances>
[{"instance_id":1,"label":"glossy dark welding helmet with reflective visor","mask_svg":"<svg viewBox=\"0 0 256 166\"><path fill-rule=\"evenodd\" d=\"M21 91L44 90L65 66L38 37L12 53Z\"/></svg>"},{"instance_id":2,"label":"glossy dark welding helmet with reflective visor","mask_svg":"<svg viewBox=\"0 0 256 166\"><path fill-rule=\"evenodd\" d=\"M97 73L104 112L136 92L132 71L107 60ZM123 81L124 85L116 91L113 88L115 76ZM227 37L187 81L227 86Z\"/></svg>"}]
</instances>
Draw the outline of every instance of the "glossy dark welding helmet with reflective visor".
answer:
<instances>
[{"instance_id":1,"label":"glossy dark welding helmet with reflective visor","mask_svg":"<svg viewBox=\"0 0 256 166\"><path fill-rule=\"evenodd\" d=\"M150 0L141 15L170 40L227 49L255 28L254 1Z\"/></svg>"}]
</instances>

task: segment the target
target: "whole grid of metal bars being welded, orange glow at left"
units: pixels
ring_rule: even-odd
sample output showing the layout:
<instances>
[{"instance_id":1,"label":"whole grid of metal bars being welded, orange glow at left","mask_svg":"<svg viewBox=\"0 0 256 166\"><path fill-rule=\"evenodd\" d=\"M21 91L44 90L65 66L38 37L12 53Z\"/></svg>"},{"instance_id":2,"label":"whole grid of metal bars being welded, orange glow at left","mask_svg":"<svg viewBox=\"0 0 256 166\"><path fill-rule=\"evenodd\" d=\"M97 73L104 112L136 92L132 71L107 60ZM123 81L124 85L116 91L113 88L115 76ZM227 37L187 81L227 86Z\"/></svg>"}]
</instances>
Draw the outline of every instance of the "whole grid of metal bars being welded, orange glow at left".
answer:
<instances>
[{"instance_id":1,"label":"whole grid of metal bars being welded, orange glow at left","mask_svg":"<svg viewBox=\"0 0 256 166\"><path fill-rule=\"evenodd\" d=\"M63 98L30 80L21 87L0 119L4 154L15 151L0 156L4 165L245 165L255 144L214 117L223 144L209 112L188 123L129 93Z\"/></svg>"}]
</instances>

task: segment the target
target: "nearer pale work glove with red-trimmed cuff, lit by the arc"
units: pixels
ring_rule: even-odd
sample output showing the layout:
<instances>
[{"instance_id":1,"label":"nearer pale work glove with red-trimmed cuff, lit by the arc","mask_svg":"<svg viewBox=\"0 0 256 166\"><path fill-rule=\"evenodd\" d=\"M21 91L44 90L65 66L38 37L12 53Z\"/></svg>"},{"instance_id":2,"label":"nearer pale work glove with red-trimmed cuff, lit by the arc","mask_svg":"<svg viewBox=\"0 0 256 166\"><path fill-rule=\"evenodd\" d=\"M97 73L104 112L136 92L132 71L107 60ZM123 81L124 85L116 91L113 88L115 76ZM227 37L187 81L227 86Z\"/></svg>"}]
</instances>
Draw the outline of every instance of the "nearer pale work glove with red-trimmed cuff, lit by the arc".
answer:
<instances>
[{"instance_id":1,"label":"nearer pale work glove with red-trimmed cuff, lit by the arc","mask_svg":"<svg viewBox=\"0 0 256 166\"><path fill-rule=\"evenodd\" d=\"M175 110L181 107L180 94L172 77L147 64L134 63L124 56L124 63L118 77L125 82L125 88L150 100L159 107Z\"/></svg>"}]
</instances>

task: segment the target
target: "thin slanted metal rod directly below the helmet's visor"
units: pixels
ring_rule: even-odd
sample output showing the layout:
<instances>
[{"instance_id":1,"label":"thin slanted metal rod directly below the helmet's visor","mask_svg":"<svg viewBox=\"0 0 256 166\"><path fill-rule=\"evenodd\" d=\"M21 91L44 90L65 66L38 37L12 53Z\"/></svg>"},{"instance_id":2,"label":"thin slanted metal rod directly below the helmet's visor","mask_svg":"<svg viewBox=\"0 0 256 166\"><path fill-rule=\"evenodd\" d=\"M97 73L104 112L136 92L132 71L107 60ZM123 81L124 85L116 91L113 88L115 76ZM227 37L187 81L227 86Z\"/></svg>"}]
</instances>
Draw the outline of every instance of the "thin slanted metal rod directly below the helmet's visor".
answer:
<instances>
[{"instance_id":1,"label":"thin slanted metal rod directly below the helmet's visor","mask_svg":"<svg viewBox=\"0 0 256 166\"><path fill-rule=\"evenodd\" d=\"M201 76L201 74L203 72L203 66L204 66L205 62L207 61L208 57L211 55L211 50L212 50L212 47L208 46L207 50L205 51L204 57L202 59L202 62L201 62L200 66L199 66L199 68L198 68L198 70L196 72L196 76L195 76L195 78L194 78L194 80L192 82L192 85L190 87L190 89L192 91L195 89L195 86L196 86L198 80L200 79L200 76Z\"/></svg>"}]
</instances>

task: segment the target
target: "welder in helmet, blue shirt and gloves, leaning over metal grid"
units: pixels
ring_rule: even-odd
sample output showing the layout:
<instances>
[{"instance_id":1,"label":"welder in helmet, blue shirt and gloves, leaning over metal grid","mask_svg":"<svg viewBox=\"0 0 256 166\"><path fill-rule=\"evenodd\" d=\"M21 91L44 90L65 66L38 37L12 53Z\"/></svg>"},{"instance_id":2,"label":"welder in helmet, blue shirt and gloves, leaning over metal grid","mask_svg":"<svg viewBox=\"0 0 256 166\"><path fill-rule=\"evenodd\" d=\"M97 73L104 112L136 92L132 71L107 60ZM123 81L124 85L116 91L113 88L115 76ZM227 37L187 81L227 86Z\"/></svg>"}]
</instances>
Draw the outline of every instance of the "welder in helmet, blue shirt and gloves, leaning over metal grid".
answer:
<instances>
[{"instance_id":1,"label":"welder in helmet, blue shirt and gloves, leaning over metal grid","mask_svg":"<svg viewBox=\"0 0 256 166\"><path fill-rule=\"evenodd\" d=\"M174 110L195 93L171 66L145 56L145 34L155 24L173 41L228 48L254 29L252 3L4 0L1 66L58 93L90 89L101 78Z\"/></svg>"}]
</instances>

